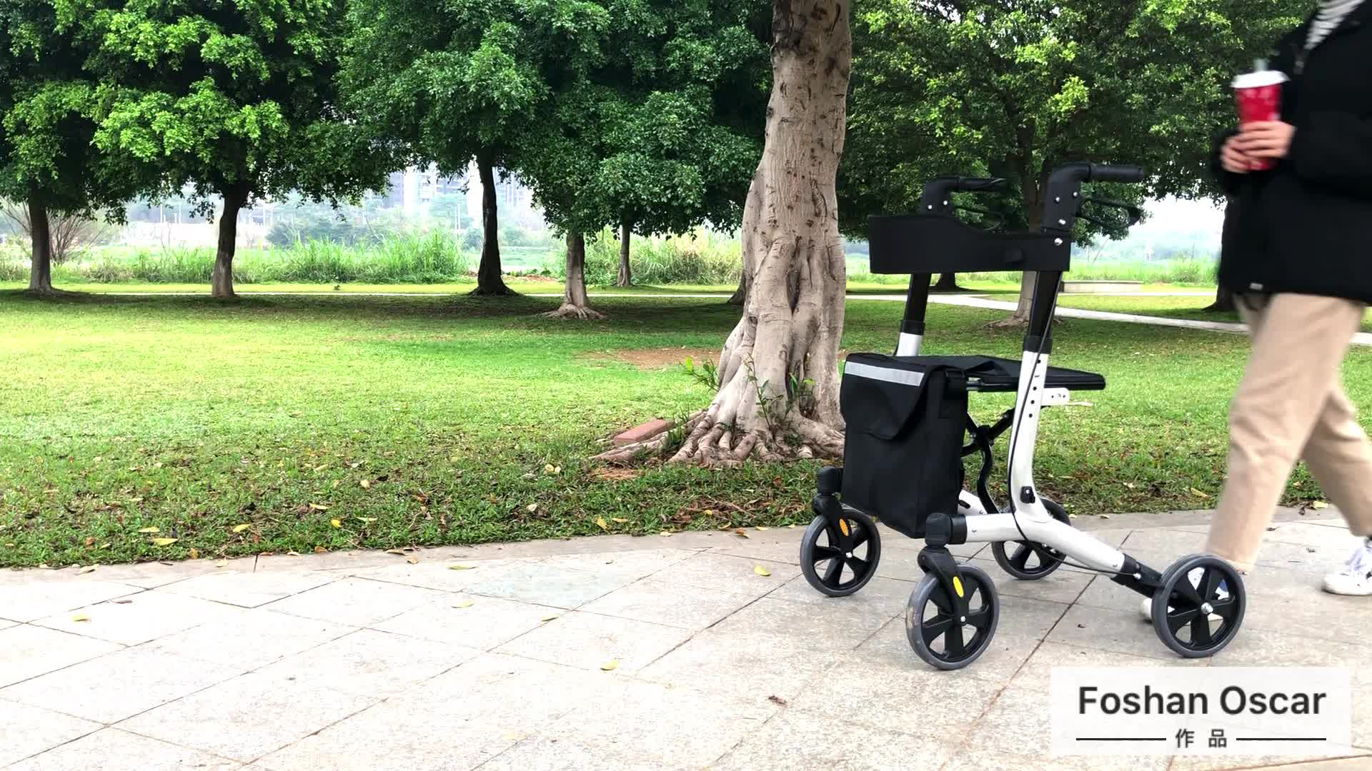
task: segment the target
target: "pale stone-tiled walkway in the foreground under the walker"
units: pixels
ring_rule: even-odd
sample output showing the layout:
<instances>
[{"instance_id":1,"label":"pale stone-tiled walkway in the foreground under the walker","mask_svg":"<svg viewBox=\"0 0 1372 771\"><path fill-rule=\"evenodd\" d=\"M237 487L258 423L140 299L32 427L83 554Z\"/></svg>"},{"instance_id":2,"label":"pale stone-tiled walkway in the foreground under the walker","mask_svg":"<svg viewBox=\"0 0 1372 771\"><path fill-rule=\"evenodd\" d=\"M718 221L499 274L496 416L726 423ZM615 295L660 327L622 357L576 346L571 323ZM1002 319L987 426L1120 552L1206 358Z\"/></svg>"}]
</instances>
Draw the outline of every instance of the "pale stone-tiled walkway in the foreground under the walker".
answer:
<instances>
[{"instance_id":1,"label":"pale stone-tiled walkway in the foreground under the walker","mask_svg":"<svg viewBox=\"0 0 1372 771\"><path fill-rule=\"evenodd\" d=\"M1328 512L1321 512L1327 514ZM1290 759L1052 759L1054 665L1340 665L1351 759L1372 768L1372 600L1317 590L1351 539L1287 513L1250 576L1240 637L1183 663L1136 597L1062 569L991 572L991 650L936 672L900 613L915 542L829 600L799 528L477 549L0 572L0 767L532 771L1266 767ZM1200 547L1203 513L1081 517L1154 567ZM413 562L413 564L412 564ZM759 569L761 568L761 569ZM763 575L767 573L767 575ZM5 620L7 619L7 620Z\"/></svg>"}]
</instances>

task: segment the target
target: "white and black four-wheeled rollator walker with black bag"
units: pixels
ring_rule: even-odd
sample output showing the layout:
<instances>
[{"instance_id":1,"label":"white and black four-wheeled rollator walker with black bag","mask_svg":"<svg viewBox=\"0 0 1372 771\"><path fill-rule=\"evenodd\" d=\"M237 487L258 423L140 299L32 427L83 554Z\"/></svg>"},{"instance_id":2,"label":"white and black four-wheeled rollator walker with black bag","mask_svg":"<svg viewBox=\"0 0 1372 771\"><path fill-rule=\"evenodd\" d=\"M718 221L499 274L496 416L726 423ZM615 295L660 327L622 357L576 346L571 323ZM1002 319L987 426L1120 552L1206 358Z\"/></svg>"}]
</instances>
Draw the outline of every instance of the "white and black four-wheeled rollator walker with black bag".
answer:
<instances>
[{"instance_id":1,"label":"white and black four-wheeled rollator walker with black bag","mask_svg":"<svg viewBox=\"0 0 1372 771\"><path fill-rule=\"evenodd\" d=\"M996 233L958 220L954 192L996 192L1002 180L940 178L925 185L918 214L873 217L871 272L910 274L896 355L853 354L844 369L841 406L848 424L844 468L818 475L815 519L801 541L801 569L816 590L847 597L862 590L881 560L875 521L922 538L925 576L910 595L906 632L930 665L960 669L989 646L1000 598L985 571L959 562L948 546L992 543L996 562L1017 580L1037 580L1062 565L1109 575L1152 600L1152 627L1177 654L1196 659L1224 649L1247 604L1243 579L1224 560L1190 556L1165 572L1074 530L1058 503L1039 494L1033 454L1047 407L1072 391L1099 391L1100 375L1048 365L1062 274L1072 266L1078 218L1100 222L1088 204L1129 204L1083 196L1084 182L1136 184L1131 166L1073 163L1052 173L1040 232ZM971 211L985 210L970 209ZM1034 272L1024 357L922 355L929 283L936 273ZM1017 394L993 425L967 412L969 392ZM1010 431L1008 505L992 497L995 442ZM970 436L970 442L967 438ZM975 493L965 490L963 458L981 455Z\"/></svg>"}]
</instances>

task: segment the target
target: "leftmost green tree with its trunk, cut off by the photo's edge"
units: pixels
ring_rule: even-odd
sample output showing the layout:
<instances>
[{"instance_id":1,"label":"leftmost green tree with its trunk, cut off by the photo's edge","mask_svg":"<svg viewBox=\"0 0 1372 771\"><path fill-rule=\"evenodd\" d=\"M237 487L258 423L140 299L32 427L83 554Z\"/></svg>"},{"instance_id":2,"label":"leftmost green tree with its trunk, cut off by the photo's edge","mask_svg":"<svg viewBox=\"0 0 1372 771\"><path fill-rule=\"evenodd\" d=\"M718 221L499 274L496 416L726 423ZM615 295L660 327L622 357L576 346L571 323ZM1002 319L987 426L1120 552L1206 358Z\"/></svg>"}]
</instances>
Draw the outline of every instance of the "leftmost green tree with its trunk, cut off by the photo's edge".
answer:
<instances>
[{"instance_id":1,"label":"leftmost green tree with its trunk, cut off by the photo's edge","mask_svg":"<svg viewBox=\"0 0 1372 771\"><path fill-rule=\"evenodd\" d=\"M0 0L0 198L26 209L29 291L52 292L49 214L119 220L139 169L97 151L85 40L48 0Z\"/></svg>"}]
</instances>

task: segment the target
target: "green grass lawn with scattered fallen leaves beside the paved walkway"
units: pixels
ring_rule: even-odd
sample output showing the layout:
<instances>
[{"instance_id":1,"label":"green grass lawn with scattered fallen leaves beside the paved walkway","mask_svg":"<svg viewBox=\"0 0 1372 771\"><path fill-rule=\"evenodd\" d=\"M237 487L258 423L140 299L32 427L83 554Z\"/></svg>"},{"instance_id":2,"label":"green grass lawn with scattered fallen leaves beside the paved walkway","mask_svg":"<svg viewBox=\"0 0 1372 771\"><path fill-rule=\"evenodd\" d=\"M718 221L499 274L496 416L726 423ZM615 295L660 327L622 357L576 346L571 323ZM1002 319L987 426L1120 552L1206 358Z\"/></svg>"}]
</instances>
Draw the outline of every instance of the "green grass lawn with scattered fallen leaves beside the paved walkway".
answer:
<instances>
[{"instance_id":1,"label":"green grass lawn with scattered fallen leaves beside the paved walkway","mask_svg":"<svg viewBox=\"0 0 1372 771\"><path fill-rule=\"evenodd\" d=\"M672 362L716 350L719 300L0 294L0 564L475 543L805 523L812 464L649 468L584 458L612 431L704 406ZM848 350L889 350L899 303L852 302ZM930 353L1018 355L996 311L934 306ZM1232 335L1069 321L1058 359L1104 373L1045 416L1045 493L1083 516L1213 505ZM672 348L661 366L624 351ZM1372 351L1346 377L1372 403ZM1007 396L977 402L989 416ZM1198 494L1199 491L1200 494ZM1288 502L1317 498L1302 472ZM244 527L246 525L246 527ZM158 532L140 532L144 528ZM237 531L237 532L236 532ZM176 539L158 545L155 539Z\"/></svg>"}]
</instances>

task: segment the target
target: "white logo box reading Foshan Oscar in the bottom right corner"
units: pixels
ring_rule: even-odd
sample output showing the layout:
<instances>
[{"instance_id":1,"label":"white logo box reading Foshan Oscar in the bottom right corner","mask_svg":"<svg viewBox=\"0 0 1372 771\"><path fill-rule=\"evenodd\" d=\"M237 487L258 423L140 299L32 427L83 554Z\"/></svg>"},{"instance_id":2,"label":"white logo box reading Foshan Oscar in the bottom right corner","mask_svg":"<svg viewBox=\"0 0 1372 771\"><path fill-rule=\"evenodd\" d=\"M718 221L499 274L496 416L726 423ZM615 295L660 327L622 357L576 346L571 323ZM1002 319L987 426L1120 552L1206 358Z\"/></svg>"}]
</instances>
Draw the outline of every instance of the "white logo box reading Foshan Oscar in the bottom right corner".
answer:
<instances>
[{"instance_id":1,"label":"white logo box reading Foshan Oscar in the bottom right corner","mask_svg":"<svg viewBox=\"0 0 1372 771\"><path fill-rule=\"evenodd\" d=\"M1345 668L1054 667L1051 705L1055 756L1354 753Z\"/></svg>"}]
</instances>

